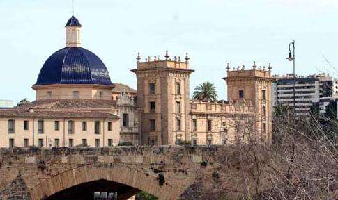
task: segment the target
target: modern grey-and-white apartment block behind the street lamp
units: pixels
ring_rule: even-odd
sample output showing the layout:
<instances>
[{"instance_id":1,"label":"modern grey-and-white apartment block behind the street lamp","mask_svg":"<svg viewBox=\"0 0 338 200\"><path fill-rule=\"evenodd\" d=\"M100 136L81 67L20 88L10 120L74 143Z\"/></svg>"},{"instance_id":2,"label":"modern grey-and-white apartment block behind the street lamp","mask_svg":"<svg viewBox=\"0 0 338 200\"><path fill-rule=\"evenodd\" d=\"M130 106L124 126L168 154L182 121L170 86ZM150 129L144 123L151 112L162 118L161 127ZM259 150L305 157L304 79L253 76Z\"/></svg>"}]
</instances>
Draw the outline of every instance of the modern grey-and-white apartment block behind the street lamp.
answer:
<instances>
[{"instance_id":1,"label":"modern grey-and-white apartment block behind the street lamp","mask_svg":"<svg viewBox=\"0 0 338 200\"><path fill-rule=\"evenodd\" d=\"M297 115L309 115L313 106L325 113L328 102L338 97L338 81L328 74L296 76L295 95L292 74L274 78L274 105L295 106Z\"/></svg>"}]
</instances>

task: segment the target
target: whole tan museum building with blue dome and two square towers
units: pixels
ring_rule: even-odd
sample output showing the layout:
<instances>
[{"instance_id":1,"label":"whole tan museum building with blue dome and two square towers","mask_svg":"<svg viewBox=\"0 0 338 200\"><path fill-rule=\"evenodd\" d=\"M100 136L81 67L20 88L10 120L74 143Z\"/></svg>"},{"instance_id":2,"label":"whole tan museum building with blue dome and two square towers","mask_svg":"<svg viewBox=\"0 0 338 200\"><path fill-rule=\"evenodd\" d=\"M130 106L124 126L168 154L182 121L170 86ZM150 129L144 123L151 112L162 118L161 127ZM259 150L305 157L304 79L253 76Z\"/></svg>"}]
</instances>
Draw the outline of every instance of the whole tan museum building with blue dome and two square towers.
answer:
<instances>
[{"instance_id":1,"label":"whole tan museum building with blue dome and two square towers","mask_svg":"<svg viewBox=\"0 0 338 200\"><path fill-rule=\"evenodd\" d=\"M228 101L190 99L189 57L141 61L137 91L112 83L105 64L81 47L82 25L66 23L66 47L40 69L36 101L0 110L0 147L112 147L271 141L271 67L226 69Z\"/></svg>"}]
</instances>

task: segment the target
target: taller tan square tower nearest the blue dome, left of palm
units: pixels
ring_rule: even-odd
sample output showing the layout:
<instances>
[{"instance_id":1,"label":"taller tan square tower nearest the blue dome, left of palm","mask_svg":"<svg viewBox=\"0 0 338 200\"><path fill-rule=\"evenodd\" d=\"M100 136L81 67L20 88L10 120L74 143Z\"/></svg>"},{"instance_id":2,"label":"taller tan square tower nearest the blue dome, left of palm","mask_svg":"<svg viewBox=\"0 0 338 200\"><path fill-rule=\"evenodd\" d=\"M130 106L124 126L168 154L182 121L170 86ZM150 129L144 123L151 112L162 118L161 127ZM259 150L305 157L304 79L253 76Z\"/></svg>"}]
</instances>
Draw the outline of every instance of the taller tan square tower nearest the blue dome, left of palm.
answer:
<instances>
[{"instance_id":1,"label":"taller tan square tower nearest the blue dome, left of palm","mask_svg":"<svg viewBox=\"0 0 338 200\"><path fill-rule=\"evenodd\" d=\"M189 57L160 60L137 56L137 107L141 111L141 144L171 145L190 138Z\"/></svg>"}]
</instances>

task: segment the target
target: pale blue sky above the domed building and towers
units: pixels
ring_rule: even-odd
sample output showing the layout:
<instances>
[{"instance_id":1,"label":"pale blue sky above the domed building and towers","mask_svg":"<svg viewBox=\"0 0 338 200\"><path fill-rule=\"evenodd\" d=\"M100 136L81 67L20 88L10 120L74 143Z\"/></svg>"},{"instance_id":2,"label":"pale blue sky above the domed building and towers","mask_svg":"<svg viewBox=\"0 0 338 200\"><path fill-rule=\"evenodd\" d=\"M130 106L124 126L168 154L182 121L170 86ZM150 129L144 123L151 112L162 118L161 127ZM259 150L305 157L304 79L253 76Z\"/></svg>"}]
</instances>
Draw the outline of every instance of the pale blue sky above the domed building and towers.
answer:
<instances>
[{"instance_id":1,"label":"pale blue sky above the domed building and towers","mask_svg":"<svg viewBox=\"0 0 338 200\"><path fill-rule=\"evenodd\" d=\"M45 60L65 47L71 0L0 0L0 99L35 99L31 85ZM337 0L75 0L82 47L107 66L113 83L136 89L137 52L190 55L190 94L210 81L226 99L226 63L271 63L273 74L292 72L285 58L296 42L296 73L337 76Z\"/></svg>"}]
</instances>

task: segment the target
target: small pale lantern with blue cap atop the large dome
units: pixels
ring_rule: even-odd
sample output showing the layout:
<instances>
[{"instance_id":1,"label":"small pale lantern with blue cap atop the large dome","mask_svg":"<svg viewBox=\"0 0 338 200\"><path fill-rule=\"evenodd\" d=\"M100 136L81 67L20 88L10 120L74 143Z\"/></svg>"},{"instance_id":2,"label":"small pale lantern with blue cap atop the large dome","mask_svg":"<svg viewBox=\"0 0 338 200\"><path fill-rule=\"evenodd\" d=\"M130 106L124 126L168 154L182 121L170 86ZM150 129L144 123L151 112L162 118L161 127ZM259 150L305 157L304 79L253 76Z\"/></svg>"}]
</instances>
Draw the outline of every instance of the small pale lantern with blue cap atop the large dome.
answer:
<instances>
[{"instance_id":1,"label":"small pale lantern with blue cap atop the large dome","mask_svg":"<svg viewBox=\"0 0 338 200\"><path fill-rule=\"evenodd\" d=\"M81 47L81 24L74 16L66 24L66 47Z\"/></svg>"}]
</instances>

